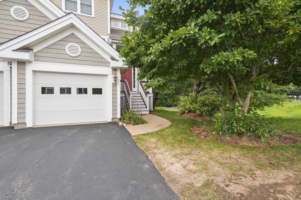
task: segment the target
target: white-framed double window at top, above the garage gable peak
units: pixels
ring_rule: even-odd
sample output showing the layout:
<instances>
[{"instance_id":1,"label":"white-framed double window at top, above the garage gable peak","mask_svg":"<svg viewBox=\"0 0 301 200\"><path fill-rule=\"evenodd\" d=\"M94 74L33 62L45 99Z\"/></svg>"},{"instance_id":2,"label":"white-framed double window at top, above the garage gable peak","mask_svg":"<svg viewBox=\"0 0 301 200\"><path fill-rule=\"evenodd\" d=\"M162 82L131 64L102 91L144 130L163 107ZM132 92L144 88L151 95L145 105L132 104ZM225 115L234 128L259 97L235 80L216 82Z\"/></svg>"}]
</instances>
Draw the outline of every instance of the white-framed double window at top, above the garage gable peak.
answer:
<instances>
[{"instance_id":1,"label":"white-framed double window at top, above the garage gable peak","mask_svg":"<svg viewBox=\"0 0 301 200\"><path fill-rule=\"evenodd\" d=\"M62 0L63 10L94 17L94 0Z\"/></svg>"}]
</instances>

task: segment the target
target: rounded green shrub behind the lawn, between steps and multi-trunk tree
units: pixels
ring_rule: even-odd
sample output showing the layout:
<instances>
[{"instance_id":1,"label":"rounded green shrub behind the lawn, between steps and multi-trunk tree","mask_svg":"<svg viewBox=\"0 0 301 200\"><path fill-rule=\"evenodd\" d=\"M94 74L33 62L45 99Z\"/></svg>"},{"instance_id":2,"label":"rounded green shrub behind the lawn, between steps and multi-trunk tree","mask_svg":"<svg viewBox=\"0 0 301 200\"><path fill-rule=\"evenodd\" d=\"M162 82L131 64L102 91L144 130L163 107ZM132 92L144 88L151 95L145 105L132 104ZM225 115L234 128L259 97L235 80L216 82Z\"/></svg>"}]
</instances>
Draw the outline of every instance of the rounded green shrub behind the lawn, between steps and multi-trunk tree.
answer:
<instances>
[{"instance_id":1,"label":"rounded green shrub behind the lawn, between steps and multi-trunk tree","mask_svg":"<svg viewBox=\"0 0 301 200\"><path fill-rule=\"evenodd\" d=\"M198 95L196 98L194 94L189 94L178 106L178 112L197 112L204 116L213 116L220 111L220 107L219 95Z\"/></svg>"}]
</instances>

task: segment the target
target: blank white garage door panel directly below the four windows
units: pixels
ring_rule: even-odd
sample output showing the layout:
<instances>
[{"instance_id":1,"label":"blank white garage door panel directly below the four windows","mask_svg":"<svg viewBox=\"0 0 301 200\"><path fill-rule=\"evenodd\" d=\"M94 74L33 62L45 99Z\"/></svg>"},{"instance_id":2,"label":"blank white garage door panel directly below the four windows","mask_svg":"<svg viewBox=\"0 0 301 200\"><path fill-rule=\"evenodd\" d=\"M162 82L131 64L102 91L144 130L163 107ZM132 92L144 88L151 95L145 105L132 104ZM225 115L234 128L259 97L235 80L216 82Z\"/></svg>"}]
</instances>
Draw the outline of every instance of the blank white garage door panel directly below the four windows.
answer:
<instances>
[{"instance_id":1,"label":"blank white garage door panel directly below the four windows","mask_svg":"<svg viewBox=\"0 0 301 200\"><path fill-rule=\"evenodd\" d=\"M107 97L36 98L35 111L107 109Z\"/></svg>"}]
</instances>

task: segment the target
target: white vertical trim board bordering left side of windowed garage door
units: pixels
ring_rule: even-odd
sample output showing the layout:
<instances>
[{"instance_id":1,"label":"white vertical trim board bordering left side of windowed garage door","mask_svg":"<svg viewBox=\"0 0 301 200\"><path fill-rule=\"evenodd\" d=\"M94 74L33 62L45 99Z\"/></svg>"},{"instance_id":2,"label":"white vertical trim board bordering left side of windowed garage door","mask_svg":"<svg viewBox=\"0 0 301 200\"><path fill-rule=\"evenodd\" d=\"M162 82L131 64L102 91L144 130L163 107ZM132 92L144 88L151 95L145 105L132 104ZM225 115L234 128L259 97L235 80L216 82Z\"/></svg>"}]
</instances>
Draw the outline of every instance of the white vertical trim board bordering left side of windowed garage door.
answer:
<instances>
[{"instance_id":1,"label":"white vertical trim board bordering left side of windowed garage door","mask_svg":"<svg viewBox=\"0 0 301 200\"><path fill-rule=\"evenodd\" d=\"M28 63L29 64L29 63ZM34 94L34 84L33 84L33 70L27 69L26 65L26 127L33 127L33 94Z\"/></svg>"}]
</instances>

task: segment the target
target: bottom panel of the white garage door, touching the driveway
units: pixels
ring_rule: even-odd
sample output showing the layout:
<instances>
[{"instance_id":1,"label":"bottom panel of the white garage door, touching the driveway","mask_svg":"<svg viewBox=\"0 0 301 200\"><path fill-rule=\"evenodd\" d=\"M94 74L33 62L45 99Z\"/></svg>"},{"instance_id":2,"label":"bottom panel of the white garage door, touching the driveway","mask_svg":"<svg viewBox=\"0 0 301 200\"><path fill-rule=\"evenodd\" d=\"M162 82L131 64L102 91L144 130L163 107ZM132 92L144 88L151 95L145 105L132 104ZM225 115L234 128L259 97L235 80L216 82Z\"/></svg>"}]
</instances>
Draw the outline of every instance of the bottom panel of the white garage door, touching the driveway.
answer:
<instances>
[{"instance_id":1,"label":"bottom panel of the white garage door, touching the driveway","mask_svg":"<svg viewBox=\"0 0 301 200\"><path fill-rule=\"evenodd\" d=\"M107 110L69 110L35 112L35 125L107 121Z\"/></svg>"}]
</instances>

